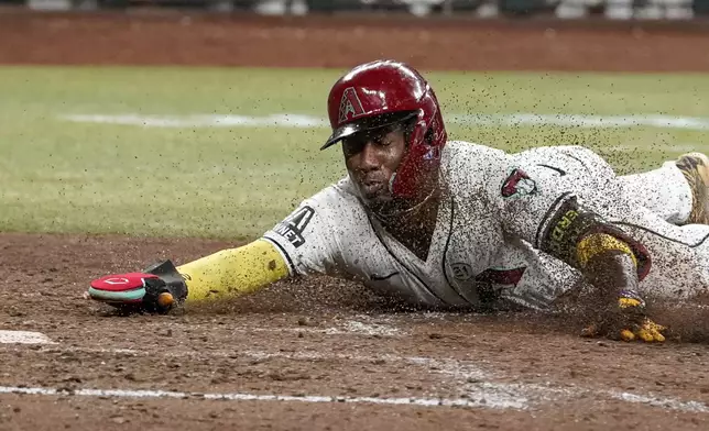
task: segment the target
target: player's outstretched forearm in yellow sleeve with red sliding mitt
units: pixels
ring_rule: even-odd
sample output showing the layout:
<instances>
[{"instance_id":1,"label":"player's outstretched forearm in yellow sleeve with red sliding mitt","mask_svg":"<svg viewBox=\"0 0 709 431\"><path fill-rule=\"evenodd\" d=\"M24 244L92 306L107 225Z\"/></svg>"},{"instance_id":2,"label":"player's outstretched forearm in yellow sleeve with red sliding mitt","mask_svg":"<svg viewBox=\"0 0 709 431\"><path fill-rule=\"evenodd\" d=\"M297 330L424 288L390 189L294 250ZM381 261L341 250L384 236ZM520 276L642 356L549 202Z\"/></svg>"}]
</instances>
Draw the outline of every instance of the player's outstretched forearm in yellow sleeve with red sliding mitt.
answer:
<instances>
[{"instance_id":1,"label":"player's outstretched forearm in yellow sleeve with red sliding mitt","mask_svg":"<svg viewBox=\"0 0 709 431\"><path fill-rule=\"evenodd\" d=\"M166 261L140 273L108 275L91 281L88 295L117 308L166 312L175 302L250 294L288 274L276 246L260 239L177 267Z\"/></svg>"}]
</instances>

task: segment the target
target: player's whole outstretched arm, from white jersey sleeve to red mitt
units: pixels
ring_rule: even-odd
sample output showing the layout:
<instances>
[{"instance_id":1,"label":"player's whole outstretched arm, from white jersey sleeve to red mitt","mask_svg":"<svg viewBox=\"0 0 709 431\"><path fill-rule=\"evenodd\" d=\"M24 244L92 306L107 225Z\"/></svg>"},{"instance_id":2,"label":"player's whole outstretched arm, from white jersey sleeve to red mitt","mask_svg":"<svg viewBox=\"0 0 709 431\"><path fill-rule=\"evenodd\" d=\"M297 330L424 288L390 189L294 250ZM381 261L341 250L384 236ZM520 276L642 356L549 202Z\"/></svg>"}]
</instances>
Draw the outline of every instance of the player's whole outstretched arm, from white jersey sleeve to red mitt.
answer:
<instances>
[{"instance_id":1,"label":"player's whole outstretched arm, from white jersey sleeve to red mitt","mask_svg":"<svg viewBox=\"0 0 709 431\"><path fill-rule=\"evenodd\" d=\"M338 270L340 241L328 218L317 211L327 188L305 200L257 241L175 266L166 261L139 273L91 281L89 297L118 308L170 311L174 302L196 302L251 294L290 275ZM346 208L335 200L334 208ZM348 212L345 212L348 213Z\"/></svg>"}]
</instances>

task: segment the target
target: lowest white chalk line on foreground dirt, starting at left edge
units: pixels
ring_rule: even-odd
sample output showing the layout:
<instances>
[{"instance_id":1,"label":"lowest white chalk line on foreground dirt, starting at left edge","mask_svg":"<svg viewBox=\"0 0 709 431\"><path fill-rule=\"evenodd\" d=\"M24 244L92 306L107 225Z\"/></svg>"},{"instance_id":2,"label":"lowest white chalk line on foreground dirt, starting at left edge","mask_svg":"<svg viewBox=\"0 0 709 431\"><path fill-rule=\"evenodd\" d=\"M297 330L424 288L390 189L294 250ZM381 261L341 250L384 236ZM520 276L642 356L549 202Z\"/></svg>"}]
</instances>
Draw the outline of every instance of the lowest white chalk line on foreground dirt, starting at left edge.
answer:
<instances>
[{"instance_id":1,"label":"lowest white chalk line on foreground dirt, starting at left edge","mask_svg":"<svg viewBox=\"0 0 709 431\"><path fill-rule=\"evenodd\" d=\"M349 404L377 404L393 406L423 406L423 407L494 407L487 400L466 398L380 398L380 397L328 397L321 395L274 395L274 394L246 394L246 393L179 393L168 390L131 390L131 389L57 389L47 387L18 387L0 386L0 394L24 395L74 395L86 397L114 397L114 398L201 398L210 400L230 401L299 401L299 402L349 402Z\"/></svg>"}]
</instances>

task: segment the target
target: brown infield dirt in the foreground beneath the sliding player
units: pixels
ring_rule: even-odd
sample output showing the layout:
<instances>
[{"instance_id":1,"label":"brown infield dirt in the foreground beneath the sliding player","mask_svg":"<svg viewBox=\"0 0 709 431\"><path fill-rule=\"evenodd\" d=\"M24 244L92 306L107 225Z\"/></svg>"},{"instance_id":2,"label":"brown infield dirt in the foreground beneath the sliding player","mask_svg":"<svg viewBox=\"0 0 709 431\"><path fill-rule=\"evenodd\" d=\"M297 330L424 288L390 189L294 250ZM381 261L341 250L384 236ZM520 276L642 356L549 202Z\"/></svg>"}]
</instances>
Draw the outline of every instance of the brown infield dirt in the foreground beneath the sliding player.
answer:
<instances>
[{"instance_id":1,"label":"brown infield dirt in the foreground beneath the sliding player","mask_svg":"<svg viewBox=\"0 0 709 431\"><path fill-rule=\"evenodd\" d=\"M519 313L397 311L326 278L171 316L117 316L83 297L87 281L107 272L233 245L1 235L0 428L709 423L703 344L586 340L563 322Z\"/></svg>"}]
</instances>

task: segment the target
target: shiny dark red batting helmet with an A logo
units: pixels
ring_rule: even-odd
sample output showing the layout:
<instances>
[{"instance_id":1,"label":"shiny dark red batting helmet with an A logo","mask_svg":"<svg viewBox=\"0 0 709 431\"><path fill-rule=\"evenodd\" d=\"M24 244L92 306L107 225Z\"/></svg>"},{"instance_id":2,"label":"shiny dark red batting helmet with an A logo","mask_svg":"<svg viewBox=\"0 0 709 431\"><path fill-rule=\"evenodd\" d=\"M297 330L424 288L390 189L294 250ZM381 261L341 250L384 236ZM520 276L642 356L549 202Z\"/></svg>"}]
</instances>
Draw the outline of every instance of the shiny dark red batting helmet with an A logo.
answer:
<instances>
[{"instance_id":1,"label":"shiny dark red batting helmet with an A logo","mask_svg":"<svg viewBox=\"0 0 709 431\"><path fill-rule=\"evenodd\" d=\"M332 134L321 150L357 132L414 121L408 153L390 183L393 195L411 197L422 174L438 169L446 128L433 88L413 67L393 60L357 66L335 82L327 110Z\"/></svg>"}]
</instances>

